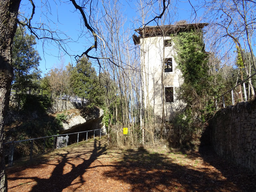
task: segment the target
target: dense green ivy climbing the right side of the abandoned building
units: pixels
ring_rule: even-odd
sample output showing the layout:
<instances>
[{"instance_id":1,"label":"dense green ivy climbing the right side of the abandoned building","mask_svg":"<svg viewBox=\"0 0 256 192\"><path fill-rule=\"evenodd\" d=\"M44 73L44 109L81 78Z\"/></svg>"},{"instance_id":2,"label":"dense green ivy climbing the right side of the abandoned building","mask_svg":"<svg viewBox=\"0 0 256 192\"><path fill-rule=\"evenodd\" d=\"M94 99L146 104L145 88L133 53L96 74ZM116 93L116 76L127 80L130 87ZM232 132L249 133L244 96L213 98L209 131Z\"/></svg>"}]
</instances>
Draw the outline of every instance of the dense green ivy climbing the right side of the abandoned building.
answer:
<instances>
[{"instance_id":1,"label":"dense green ivy climbing the right side of the abandoned building","mask_svg":"<svg viewBox=\"0 0 256 192\"><path fill-rule=\"evenodd\" d=\"M180 32L172 35L172 41L177 52L175 61L184 78L176 93L178 99L187 104L185 111L177 114L173 120L176 136L174 134L172 142L177 145L191 143L200 137L209 114L215 110L212 100L215 87L209 73L202 32Z\"/></svg>"}]
</instances>

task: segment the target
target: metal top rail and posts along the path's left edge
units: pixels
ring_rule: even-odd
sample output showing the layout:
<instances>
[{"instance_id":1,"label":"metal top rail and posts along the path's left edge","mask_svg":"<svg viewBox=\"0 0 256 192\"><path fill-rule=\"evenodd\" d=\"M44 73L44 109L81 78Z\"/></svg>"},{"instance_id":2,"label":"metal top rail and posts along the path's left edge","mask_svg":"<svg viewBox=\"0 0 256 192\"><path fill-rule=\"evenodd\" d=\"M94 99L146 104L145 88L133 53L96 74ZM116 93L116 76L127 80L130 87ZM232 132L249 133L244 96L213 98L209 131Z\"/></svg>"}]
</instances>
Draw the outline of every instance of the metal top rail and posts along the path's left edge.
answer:
<instances>
[{"instance_id":1,"label":"metal top rail and posts along the path's left edge","mask_svg":"<svg viewBox=\"0 0 256 192\"><path fill-rule=\"evenodd\" d=\"M65 136L65 137L63 137L63 138L65 138L65 143L64 143L65 146L62 145L62 146L60 146L60 148L61 148L61 147L67 147L68 144L70 145L70 144L78 143L79 141L82 141L82 140L86 140L87 141L88 138L92 137L92 135L93 135L93 140L95 139L95 136L99 136L101 138L101 134L103 134L103 135L106 134L106 130L107 129L108 128L94 129L94 130L89 130L89 131L67 133L67 134L61 134L61 135L51 135L51 136L39 137L39 138L33 138L33 139L27 139L27 140L19 140L19 141L6 142L3 145L4 146L9 145L8 166L11 167L13 165L13 156L14 156L14 149L15 149L15 144L16 143L31 141L29 156L30 156L30 160L32 160L32 156L34 155L33 154L33 148L34 148L34 143L36 142L36 140L43 140L43 150L42 150L42 153L39 153L39 154L45 154L45 149L46 149L45 144L46 144L46 139L47 138L48 139L52 139L52 148L50 149L48 147L47 149L50 149L50 150L53 151L54 149L58 148L58 145L57 145L58 144L58 137ZM50 150L48 150L48 151L50 151Z\"/></svg>"}]
</instances>

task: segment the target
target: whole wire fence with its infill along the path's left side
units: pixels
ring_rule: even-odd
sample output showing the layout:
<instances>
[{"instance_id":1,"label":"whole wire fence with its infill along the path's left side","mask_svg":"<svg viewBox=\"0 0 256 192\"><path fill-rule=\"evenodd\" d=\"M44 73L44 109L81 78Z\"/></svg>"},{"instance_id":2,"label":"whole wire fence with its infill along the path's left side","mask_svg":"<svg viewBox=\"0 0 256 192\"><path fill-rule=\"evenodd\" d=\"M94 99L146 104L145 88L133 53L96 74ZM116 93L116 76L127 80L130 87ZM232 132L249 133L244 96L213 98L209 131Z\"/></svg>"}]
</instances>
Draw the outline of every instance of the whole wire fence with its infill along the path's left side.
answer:
<instances>
[{"instance_id":1,"label":"whole wire fence with its infill along the path's left side","mask_svg":"<svg viewBox=\"0 0 256 192\"><path fill-rule=\"evenodd\" d=\"M13 165L14 160L22 157L29 157L45 154L58 148L67 147L68 145L78 143L80 141L95 139L106 135L108 128L94 129L90 131L67 133L61 135L51 135L47 137L33 138L27 140L10 141L4 143L5 162L8 166Z\"/></svg>"}]
</instances>

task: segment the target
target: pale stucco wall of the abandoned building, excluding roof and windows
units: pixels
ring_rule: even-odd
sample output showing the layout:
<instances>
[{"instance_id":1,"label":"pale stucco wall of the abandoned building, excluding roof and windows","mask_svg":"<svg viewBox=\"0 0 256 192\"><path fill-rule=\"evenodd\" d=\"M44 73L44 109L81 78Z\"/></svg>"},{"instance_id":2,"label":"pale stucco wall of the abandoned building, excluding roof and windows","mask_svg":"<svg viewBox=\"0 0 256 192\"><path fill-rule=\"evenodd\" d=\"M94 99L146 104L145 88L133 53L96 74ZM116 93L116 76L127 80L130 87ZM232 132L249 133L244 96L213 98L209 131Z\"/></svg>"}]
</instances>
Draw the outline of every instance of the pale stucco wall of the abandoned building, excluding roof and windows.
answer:
<instances>
[{"instance_id":1,"label":"pale stucco wall of the abandoned building, excluding roof and windows","mask_svg":"<svg viewBox=\"0 0 256 192\"><path fill-rule=\"evenodd\" d=\"M164 103L165 120L170 121L174 112L182 108L182 103L176 99L175 87L179 87L183 83L183 79L173 58L175 54L173 43L172 46L164 48L164 40L166 39L170 39L170 37L155 36L144 39L140 38L144 105L146 107L149 101L151 108L154 110L156 121L161 121L162 119L162 71L164 87L174 87L174 102ZM172 58L172 72L164 72L164 58Z\"/></svg>"}]
</instances>

